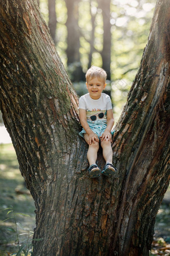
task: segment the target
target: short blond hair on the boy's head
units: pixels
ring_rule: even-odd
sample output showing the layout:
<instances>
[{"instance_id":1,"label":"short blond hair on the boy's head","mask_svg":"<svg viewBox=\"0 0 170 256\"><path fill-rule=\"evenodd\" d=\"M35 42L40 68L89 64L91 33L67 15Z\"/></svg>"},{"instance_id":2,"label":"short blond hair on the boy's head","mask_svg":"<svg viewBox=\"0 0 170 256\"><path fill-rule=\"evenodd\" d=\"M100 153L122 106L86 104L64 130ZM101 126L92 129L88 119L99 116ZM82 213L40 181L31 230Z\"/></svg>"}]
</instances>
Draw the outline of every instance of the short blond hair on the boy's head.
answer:
<instances>
[{"instance_id":1,"label":"short blond hair on the boy's head","mask_svg":"<svg viewBox=\"0 0 170 256\"><path fill-rule=\"evenodd\" d=\"M86 82L89 78L94 78L97 77L99 78L104 84L105 84L105 80L106 80L106 72L104 69L99 68L99 67L95 67L95 66L91 66L86 74L85 74L85 78L86 78Z\"/></svg>"}]
</instances>

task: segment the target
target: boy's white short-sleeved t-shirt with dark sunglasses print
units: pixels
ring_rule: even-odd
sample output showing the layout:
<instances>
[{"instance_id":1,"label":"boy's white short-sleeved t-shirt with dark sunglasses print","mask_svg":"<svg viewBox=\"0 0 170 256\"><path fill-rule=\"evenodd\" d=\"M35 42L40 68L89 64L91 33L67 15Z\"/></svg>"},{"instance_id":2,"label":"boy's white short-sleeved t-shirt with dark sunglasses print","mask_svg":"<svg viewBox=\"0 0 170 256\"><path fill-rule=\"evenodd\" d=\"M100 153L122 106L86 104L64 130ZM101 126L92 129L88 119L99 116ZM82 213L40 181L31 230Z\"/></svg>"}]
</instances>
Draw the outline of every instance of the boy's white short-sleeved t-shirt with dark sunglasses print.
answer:
<instances>
[{"instance_id":1,"label":"boy's white short-sleeved t-shirt with dark sunglasses print","mask_svg":"<svg viewBox=\"0 0 170 256\"><path fill-rule=\"evenodd\" d=\"M101 93L99 99L92 99L89 93L86 93L79 98L79 108L86 110L88 122L95 123L97 120L107 122L106 111L112 109L112 106L107 94Z\"/></svg>"}]
</instances>

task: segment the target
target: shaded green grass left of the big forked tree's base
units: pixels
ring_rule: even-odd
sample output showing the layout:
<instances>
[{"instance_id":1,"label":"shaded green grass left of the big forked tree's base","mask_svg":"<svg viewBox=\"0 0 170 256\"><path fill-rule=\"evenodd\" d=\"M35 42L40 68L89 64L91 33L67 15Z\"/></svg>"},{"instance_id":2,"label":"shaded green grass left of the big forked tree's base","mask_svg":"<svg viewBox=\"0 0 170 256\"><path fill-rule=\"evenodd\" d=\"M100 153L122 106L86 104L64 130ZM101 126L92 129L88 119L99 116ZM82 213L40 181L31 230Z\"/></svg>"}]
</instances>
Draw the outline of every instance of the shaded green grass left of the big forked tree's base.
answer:
<instances>
[{"instance_id":1,"label":"shaded green grass left of the big forked tree's base","mask_svg":"<svg viewBox=\"0 0 170 256\"><path fill-rule=\"evenodd\" d=\"M17 194L16 190L24 192ZM0 221L12 216L7 210L12 206L14 212L21 212L28 216L16 215L19 233L33 231L35 226L35 206L29 191L25 188L24 180L20 174L16 154L12 144L0 145ZM0 256L7 256L17 251L16 234L7 228L15 229L13 219L0 222ZM19 236L20 241L25 237Z\"/></svg>"}]
</instances>

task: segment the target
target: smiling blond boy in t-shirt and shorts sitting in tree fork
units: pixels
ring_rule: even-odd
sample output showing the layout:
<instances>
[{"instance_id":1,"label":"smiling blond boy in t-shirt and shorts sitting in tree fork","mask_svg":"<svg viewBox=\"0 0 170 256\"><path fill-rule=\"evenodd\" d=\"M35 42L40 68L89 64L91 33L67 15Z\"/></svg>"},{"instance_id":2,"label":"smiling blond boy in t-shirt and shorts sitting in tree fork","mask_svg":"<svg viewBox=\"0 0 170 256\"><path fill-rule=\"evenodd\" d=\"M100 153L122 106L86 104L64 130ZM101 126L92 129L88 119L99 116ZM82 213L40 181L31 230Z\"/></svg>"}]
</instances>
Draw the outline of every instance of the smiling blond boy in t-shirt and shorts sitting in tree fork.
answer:
<instances>
[{"instance_id":1,"label":"smiling blond boy in t-shirt and shorts sitting in tree fork","mask_svg":"<svg viewBox=\"0 0 170 256\"><path fill-rule=\"evenodd\" d=\"M79 98L79 119L83 127L79 133L88 146L87 159L89 176L100 176L100 169L95 164L99 141L103 158L106 162L102 174L111 176L116 170L112 165L111 129L114 124L111 100L102 93L106 86L106 72L102 68L92 66L85 75L88 93Z\"/></svg>"}]
</instances>

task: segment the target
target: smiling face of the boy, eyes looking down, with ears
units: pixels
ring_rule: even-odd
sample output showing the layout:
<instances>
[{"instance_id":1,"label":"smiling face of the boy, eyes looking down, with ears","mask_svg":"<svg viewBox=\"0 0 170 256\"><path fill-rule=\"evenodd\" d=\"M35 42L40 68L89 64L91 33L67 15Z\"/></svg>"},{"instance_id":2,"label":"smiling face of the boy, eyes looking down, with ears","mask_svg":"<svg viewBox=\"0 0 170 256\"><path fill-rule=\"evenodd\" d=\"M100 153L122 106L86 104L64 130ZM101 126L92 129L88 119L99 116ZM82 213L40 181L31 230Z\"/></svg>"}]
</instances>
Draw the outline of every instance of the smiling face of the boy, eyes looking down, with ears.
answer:
<instances>
[{"instance_id":1,"label":"smiling face of the boy, eyes looking down, with ears","mask_svg":"<svg viewBox=\"0 0 170 256\"><path fill-rule=\"evenodd\" d=\"M89 78L86 82L86 87L89 92L89 96L92 99L99 99L101 96L102 90L105 88L106 83L104 84L99 78L93 77Z\"/></svg>"}]
</instances>

